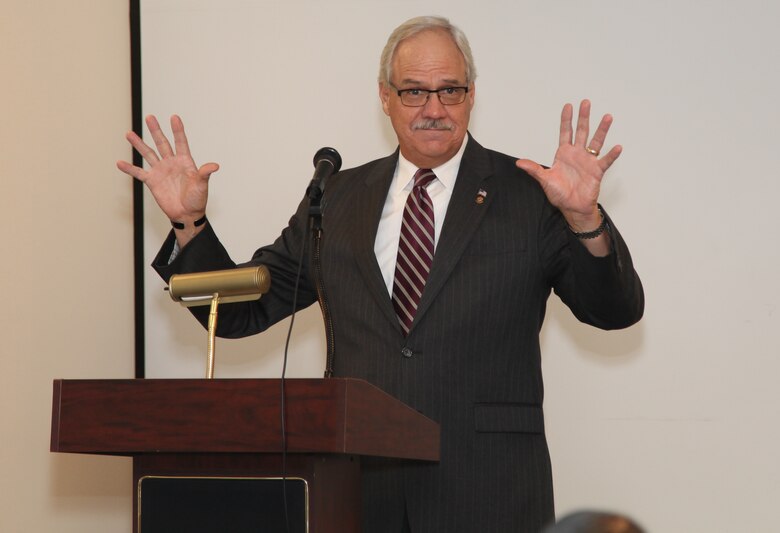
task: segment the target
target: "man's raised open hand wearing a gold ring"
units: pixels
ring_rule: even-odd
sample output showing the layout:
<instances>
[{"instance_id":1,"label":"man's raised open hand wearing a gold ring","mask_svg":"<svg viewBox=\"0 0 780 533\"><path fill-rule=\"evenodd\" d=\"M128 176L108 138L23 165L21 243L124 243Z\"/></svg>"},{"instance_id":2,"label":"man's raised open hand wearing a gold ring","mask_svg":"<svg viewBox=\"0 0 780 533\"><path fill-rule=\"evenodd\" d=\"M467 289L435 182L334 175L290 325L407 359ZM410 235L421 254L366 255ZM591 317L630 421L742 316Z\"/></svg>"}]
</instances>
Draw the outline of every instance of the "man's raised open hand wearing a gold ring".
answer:
<instances>
[{"instance_id":1,"label":"man's raised open hand wearing a gold ring","mask_svg":"<svg viewBox=\"0 0 780 533\"><path fill-rule=\"evenodd\" d=\"M547 199L561 211L574 231L587 232L601 224L597 207L601 180L620 155L622 147L615 146L599 157L612 125L611 115L604 115L588 142L590 101L580 103L574 139L572 115L572 105L563 106L558 150L549 169L529 159L519 159L516 164L539 182Z\"/></svg>"}]
</instances>

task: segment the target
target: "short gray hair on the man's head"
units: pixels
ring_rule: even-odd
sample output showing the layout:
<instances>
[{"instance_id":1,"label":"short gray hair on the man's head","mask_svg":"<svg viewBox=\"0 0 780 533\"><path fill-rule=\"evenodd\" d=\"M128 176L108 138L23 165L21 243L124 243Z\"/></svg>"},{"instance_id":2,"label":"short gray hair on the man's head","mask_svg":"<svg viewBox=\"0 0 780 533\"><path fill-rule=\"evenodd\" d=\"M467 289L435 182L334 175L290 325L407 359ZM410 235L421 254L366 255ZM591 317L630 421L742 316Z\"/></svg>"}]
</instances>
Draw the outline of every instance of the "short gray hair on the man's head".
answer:
<instances>
[{"instance_id":1,"label":"short gray hair on the man's head","mask_svg":"<svg viewBox=\"0 0 780 533\"><path fill-rule=\"evenodd\" d=\"M474 57L471 55L471 46L466 34L444 17L416 17L398 26L387 39L379 59L379 83L385 85L390 83L390 78L393 76L393 56L401 41L427 30L444 30L449 33L466 62L466 83L471 83L477 78L477 67L474 65Z\"/></svg>"}]
</instances>

